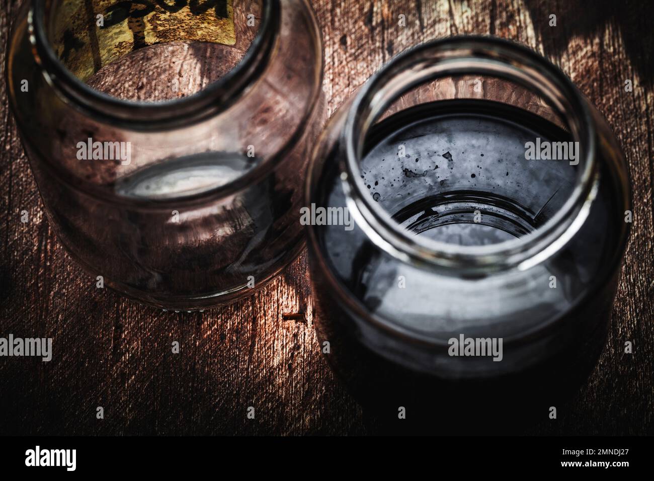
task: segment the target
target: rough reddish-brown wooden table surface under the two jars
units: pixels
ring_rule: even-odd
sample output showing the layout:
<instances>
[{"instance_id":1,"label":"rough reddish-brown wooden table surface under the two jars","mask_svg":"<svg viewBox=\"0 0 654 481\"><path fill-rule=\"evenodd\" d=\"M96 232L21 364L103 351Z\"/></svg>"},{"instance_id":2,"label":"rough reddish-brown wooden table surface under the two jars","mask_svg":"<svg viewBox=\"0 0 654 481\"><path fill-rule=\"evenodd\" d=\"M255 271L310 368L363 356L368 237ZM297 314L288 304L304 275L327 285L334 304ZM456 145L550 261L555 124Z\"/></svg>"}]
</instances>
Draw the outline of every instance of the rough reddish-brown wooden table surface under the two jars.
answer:
<instances>
[{"instance_id":1,"label":"rough reddish-brown wooden table surface under the two jars","mask_svg":"<svg viewBox=\"0 0 654 481\"><path fill-rule=\"evenodd\" d=\"M18 3L0 7L2 62ZM555 421L526 433L654 434L654 28L632 0L317 0L328 113L394 54L424 40L490 33L570 76L627 156L634 223L613 322L591 378ZM406 26L398 25L400 14ZM557 26L549 26L549 15ZM4 79L4 73L3 73ZM625 80L633 91L625 92ZM365 434L364 412L321 357L307 260L249 298L163 313L96 289L43 215L0 84L0 337L52 337L49 363L0 358L0 435ZM21 223L26 210L31 221ZM633 353L625 354L625 341ZM181 353L171 353L178 341ZM104 419L96 408L103 406ZM255 407L247 419L248 406ZM435 433L438 434L438 433Z\"/></svg>"}]
</instances>

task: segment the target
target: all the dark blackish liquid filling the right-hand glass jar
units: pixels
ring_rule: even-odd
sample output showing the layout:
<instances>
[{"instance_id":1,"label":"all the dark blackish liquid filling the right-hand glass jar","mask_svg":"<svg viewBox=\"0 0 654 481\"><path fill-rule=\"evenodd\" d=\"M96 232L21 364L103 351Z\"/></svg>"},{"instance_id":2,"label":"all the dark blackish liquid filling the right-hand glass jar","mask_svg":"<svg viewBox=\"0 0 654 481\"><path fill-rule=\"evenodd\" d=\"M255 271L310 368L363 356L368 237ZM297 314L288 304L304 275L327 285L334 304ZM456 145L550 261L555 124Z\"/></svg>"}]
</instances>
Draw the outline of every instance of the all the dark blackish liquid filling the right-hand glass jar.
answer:
<instances>
[{"instance_id":1,"label":"all the dark blackish liquid filling the right-hand glass jar","mask_svg":"<svg viewBox=\"0 0 654 481\"><path fill-rule=\"evenodd\" d=\"M577 166L568 160L525 159L525 143L537 138L572 140L549 120L492 101L411 107L371 129L360 164L362 180L370 196L416 236L455 245L500 243L542 226L574 188ZM345 206L337 160L321 164L312 200L317 205ZM482 310L470 325L456 325L466 304L479 301L464 294L454 303L440 297L456 296L456 290L439 292L443 279L438 284L429 272L414 273L411 287L398 289L405 267L376 249L358 227L315 227L318 253L310 258L318 338L321 344L330 342L326 358L364 411L402 429L447 433L450 427L468 426L469 432L491 427L515 433L529 425L525 420L547 421L550 406L562 408L604 346L617 282L611 259L622 217L611 172L601 159L600 164L602 182L587 222L559 255L539 267L556 277L557 289L542 285L500 302L515 304L515 322L503 323L501 315L487 322ZM526 334L543 319L556 322L530 362L511 366L508 374L443 376L443 368L412 364L412 347L385 353L376 334L356 327L326 270L365 311L412 332L445 339L456 332L504 336L520 344L529 342ZM453 276L452 283L457 281ZM482 294L489 319L496 294L492 283ZM504 345L505 357L510 349L510 343ZM404 421L398 421L400 406L407 410Z\"/></svg>"}]
</instances>

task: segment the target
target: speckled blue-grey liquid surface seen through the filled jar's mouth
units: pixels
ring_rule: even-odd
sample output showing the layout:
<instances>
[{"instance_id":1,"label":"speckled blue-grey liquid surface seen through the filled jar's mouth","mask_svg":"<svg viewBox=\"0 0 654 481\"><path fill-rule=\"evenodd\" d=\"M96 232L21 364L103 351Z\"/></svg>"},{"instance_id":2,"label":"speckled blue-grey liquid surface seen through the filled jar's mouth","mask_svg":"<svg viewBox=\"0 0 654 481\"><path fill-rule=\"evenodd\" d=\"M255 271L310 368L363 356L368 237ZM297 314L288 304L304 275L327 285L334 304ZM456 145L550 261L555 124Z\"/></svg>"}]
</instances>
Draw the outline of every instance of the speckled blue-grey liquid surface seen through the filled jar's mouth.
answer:
<instances>
[{"instance_id":1,"label":"speckled blue-grey liquid surface seen through the filled jar's mouth","mask_svg":"<svg viewBox=\"0 0 654 481\"><path fill-rule=\"evenodd\" d=\"M361 162L373 199L411 232L458 245L499 243L541 226L570 195L569 162L525 160L525 143L547 141L553 128L538 132L489 111L430 113L419 107L381 122L372 141L381 140Z\"/></svg>"}]
</instances>

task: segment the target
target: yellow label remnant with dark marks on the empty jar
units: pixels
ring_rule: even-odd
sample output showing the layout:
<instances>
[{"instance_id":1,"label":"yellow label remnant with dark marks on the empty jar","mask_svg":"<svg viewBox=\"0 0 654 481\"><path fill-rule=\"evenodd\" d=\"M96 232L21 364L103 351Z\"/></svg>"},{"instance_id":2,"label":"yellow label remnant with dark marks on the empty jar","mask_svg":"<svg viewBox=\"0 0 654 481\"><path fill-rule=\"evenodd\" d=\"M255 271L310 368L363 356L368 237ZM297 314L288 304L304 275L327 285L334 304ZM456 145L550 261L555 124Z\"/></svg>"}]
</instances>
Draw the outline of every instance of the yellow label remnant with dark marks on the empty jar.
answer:
<instances>
[{"instance_id":1,"label":"yellow label remnant with dark marks on the empty jar","mask_svg":"<svg viewBox=\"0 0 654 481\"><path fill-rule=\"evenodd\" d=\"M233 0L63 0L53 18L54 51L82 80L148 45L236 43Z\"/></svg>"}]
</instances>

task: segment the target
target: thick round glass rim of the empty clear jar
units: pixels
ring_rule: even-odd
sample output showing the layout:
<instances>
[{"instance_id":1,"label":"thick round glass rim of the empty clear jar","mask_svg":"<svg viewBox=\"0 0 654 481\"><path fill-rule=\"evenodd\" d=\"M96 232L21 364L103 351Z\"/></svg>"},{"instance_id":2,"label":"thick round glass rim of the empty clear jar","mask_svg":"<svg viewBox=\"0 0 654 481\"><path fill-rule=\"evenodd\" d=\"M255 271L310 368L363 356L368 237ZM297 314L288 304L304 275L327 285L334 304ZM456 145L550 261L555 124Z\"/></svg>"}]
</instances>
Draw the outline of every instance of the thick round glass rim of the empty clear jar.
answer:
<instances>
[{"instance_id":1,"label":"thick round glass rim of the empty clear jar","mask_svg":"<svg viewBox=\"0 0 654 481\"><path fill-rule=\"evenodd\" d=\"M134 101L95 90L73 75L61 62L46 29L46 17L52 4L52 0L32 0L27 18L35 60L41 65L48 83L66 101L89 115L140 131L185 126L228 109L266 68L280 22L279 0L263 0L258 31L243 58L230 71L186 97L154 102Z\"/></svg>"}]
</instances>

